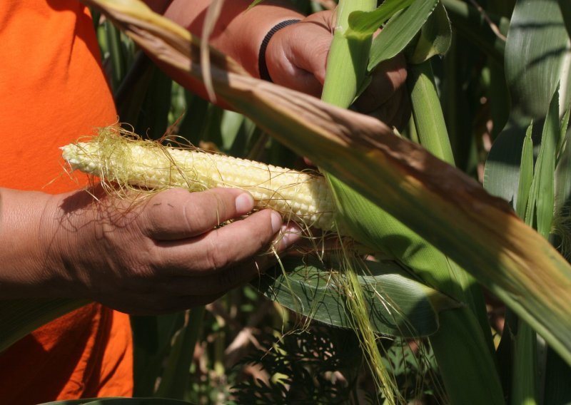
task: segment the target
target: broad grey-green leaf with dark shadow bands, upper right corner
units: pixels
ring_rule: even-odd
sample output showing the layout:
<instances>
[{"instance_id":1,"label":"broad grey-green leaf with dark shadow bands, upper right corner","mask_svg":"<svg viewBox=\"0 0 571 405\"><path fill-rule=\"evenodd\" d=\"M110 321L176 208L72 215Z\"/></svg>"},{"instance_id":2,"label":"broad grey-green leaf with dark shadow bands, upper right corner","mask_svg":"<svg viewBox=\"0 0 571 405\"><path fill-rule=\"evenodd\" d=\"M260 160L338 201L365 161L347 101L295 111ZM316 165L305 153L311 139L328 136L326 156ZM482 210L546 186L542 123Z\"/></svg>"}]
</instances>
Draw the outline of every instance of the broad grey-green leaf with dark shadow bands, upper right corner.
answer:
<instances>
[{"instance_id":1,"label":"broad grey-green leaf with dark shadow bands, upper right corner","mask_svg":"<svg viewBox=\"0 0 571 405\"><path fill-rule=\"evenodd\" d=\"M560 100L561 106L569 105L568 38L557 1L517 1L505 45L505 75L512 112L487 157L484 180L486 190L514 206L527 125L533 121L541 130L538 123L545 120L559 82L566 95Z\"/></svg>"}]
</instances>

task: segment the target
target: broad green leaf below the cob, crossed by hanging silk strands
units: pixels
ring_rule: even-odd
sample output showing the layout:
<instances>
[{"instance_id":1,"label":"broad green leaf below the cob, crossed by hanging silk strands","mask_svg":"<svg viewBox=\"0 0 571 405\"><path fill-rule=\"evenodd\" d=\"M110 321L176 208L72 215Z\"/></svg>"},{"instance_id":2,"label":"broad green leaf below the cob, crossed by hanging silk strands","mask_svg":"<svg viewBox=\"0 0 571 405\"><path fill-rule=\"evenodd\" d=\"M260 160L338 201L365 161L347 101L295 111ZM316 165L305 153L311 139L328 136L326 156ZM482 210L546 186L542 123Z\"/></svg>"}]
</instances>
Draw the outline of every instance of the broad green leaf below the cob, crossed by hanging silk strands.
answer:
<instances>
[{"instance_id":1,"label":"broad green leaf below the cob, crossed by hanging silk strands","mask_svg":"<svg viewBox=\"0 0 571 405\"><path fill-rule=\"evenodd\" d=\"M317 259L286 257L281 270L263 275L253 284L266 297L284 307L335 327L351 327L353 319L341 280L343 264L331 267ZM458 307L446 297L407 274L394 262L360 262L359 283L365 294L370 322L375 331L392 337L421 337L438 329L438 312Z\"/></svg>"}]
</instances>

